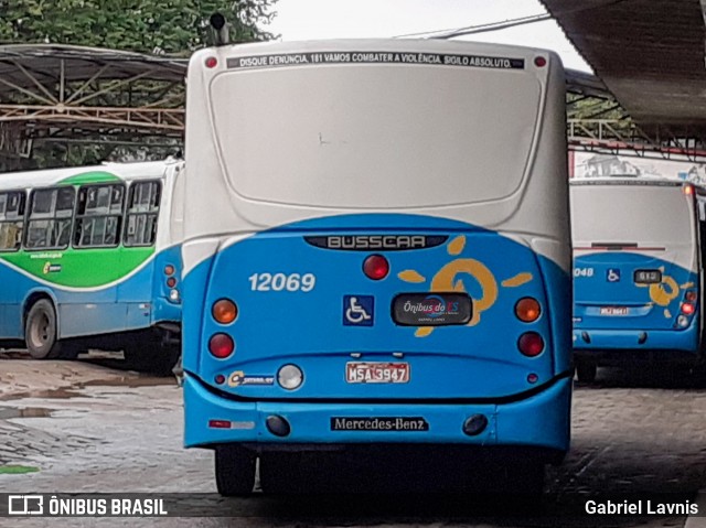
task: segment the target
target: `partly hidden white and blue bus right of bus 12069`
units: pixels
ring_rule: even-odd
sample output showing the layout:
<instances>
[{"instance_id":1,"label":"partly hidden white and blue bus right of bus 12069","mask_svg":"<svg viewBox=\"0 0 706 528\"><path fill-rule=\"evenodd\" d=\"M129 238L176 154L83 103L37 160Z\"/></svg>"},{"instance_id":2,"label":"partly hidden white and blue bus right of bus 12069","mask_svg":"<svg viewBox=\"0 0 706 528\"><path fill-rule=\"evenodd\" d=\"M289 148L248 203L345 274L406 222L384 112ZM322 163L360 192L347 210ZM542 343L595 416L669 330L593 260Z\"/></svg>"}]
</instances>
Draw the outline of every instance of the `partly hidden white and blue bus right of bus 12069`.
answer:
<instances>
[{"instance_id":1,"label":"partly hidden white and blue bus right of bus 12069","mask_svg":"<svg viewBox=\"0 0 706 528\"><path fill-rule=\"evenodd\" d=\"M571 182L577 377L601 365L695 360L702 258L695 187L616 177Z\"/></svg>"}]
</instances>

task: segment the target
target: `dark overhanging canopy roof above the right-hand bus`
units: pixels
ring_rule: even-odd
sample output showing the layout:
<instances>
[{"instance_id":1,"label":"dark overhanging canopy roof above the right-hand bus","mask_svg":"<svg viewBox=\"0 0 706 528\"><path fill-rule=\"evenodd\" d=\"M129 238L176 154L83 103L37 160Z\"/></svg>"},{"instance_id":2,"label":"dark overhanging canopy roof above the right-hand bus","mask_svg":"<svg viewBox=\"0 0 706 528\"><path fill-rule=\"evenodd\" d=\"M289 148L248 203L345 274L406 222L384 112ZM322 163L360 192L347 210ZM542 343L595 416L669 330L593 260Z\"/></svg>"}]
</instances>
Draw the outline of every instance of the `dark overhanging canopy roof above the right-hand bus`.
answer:
<instances>
[{"instance_id":1,"label":"dark overhanging canopy roof above the right-hand bus","mask_svg":"<svg viewBox=\"0 0 706 528\"><path fill-rule=\"evenodd\" d=\"M706 0L541 1L642 130L706 137Z\"/></svg>"}]
</instances>

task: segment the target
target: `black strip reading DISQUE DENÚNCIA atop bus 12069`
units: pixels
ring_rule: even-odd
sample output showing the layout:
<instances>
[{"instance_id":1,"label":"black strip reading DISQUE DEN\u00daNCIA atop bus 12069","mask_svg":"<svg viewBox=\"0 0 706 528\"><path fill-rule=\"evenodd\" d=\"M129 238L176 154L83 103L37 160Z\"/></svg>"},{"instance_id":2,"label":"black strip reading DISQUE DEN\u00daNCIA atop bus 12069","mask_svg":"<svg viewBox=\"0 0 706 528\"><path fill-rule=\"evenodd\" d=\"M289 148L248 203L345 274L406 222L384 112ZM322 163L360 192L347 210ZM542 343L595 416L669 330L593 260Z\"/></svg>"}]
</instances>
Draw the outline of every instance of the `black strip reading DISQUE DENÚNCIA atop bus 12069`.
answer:
<instances>
[{"instance_id":1,"label":"black strip reading DISQUE DEN\u00daNCIA atop bus 12069","mask_svg":"<svg viewBox=\"0 0 706 528\"><path fill-rule=\"evenodd\" d=\"M278 66L309 66L319 64L426 64L437 66L466 66L492 69L524 69L525 60L428 52L315 52L278 53L228 57L229 69L271 68Z\"/></svg>"}]
</instances>

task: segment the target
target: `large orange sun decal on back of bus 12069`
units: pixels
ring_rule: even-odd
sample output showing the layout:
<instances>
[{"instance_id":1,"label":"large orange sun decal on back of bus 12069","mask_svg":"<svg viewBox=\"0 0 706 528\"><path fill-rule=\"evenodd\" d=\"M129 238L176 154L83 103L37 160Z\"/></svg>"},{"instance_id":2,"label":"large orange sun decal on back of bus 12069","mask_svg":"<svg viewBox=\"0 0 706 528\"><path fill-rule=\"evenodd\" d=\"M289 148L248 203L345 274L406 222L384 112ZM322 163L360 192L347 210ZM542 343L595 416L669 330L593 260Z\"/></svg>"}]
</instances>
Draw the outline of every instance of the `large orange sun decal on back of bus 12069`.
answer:
<instances>
[{"instance_id":1,"label":"large orange sun decal on back of bus 12069","mask_svg":"<svg viewBox=\"0 0 706 528\"><path fill-rule=\"evenodd\" d=\"M452 256L460 256L466 249L466 236L460 235L449 241L447 246L447 252ZM499 287L495 276L488 267L480 260L472 258L456 258L446 263L437 273L431 278L429 283L429 291L431 292L463 292L468 293L463 280L458 278L459 276L470 276L472 280L478 282L481 288L482 295L478 299L473 298L473 316L468 322L467 326L475 326L481 321L481 314L490 309L495 301L498 301ZM397 277L411 283L424 283L427 279L416 270L404 270L397 273ZM532 280L532 273L522 272L514 277L507 278L501 282L502 288L516 288L525 284ZM415 331L415 336L426 337L434 332L434 326L420 326Z\"/></svg>"}]
</instances>

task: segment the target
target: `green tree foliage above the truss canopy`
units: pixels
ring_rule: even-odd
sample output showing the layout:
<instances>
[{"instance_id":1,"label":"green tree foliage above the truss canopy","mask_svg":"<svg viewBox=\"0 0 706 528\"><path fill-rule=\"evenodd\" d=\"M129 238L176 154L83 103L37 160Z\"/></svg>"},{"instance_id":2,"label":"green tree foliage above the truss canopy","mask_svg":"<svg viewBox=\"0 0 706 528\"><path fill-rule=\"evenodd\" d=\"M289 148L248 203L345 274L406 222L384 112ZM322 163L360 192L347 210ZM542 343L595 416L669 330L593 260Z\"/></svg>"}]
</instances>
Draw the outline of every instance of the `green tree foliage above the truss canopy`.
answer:
<instances>
[{"instance_id":1,"label":"green tree foliage above the truss canopy","mask_svg":"<svg viewBox=\"0 0 706 528\"><path fill-rule=\"evenodd\" d=\"M277 0L0 0L0 42L189 54L208 43L218 11L233 41L269 40Z\"/></svg>"}]
</instances>

